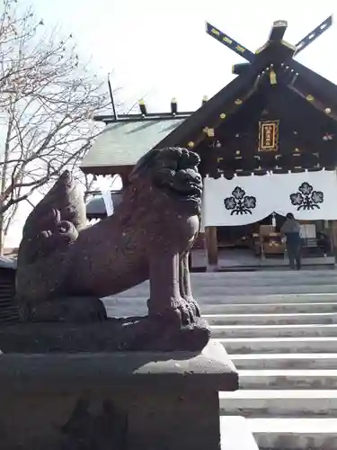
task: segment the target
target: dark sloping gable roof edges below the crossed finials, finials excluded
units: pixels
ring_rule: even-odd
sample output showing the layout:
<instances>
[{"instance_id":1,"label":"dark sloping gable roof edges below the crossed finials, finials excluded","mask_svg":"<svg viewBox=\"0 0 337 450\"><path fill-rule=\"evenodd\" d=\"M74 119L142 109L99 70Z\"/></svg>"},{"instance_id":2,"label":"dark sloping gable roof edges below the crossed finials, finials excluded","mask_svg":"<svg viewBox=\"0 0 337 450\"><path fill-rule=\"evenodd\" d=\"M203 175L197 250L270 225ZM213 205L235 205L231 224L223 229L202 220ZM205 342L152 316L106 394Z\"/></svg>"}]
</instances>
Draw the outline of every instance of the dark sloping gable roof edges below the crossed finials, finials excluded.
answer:
<instances>
[{"instance_id":1,"label":"dark sloping gable roof edges below the crossed finials, finials excluded","mask_svg":"<svg viewBox=\"0 0 337 450\"><path fill-rule=\"evenodd\" d=\"M193 147L197 146L204 139L205 127L217 128L221 122L240 110L260 86L265 84L266 78L269 79L270 71L275 66L279 85L306 99L308 108L319 110L337 123L337 85L295 60L288 61L287 66L277 66L269 58L258 58L155 147L163 148L175 143L182 147L191 148L189 143Z\"/></svg>"}]
</instances>

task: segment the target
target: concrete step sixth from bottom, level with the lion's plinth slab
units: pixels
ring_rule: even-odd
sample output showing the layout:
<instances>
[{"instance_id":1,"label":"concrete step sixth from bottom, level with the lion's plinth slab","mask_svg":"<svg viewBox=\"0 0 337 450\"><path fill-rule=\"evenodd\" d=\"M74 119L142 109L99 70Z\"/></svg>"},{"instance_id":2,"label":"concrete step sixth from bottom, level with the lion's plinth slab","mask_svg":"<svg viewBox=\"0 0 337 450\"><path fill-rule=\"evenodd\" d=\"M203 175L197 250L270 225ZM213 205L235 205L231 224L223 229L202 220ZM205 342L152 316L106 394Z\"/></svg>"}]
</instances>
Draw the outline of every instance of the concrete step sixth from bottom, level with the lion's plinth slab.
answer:
<instances>
[{"instance_id":1,"label":"concrete step sixth from bottom, level with the lion's plinth slab","mask_svg":"<svg viewBox=\"0 0 337 450\"><path fill-rule=\"evenodd\" d=\"M212 325L212 338L337 337L337 325Z\"/></svg>"}]
</instances>

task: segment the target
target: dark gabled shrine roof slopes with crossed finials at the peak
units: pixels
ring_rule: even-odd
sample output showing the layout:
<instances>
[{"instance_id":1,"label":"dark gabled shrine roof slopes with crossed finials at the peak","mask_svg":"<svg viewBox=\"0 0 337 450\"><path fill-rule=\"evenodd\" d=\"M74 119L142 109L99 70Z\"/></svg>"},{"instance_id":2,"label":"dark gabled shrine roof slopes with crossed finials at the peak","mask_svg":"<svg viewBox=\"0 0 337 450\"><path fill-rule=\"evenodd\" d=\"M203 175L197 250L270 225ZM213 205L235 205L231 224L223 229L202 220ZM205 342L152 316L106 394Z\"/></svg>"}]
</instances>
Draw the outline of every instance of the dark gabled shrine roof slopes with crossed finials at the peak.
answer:
<instances>
[{"instance_id":1,"label":"dark gabled shrine roof slopes with crossed finials at the peak","mask_svg":"<svg viewBox=\"0 0 337 450\"><path fill-rule=\"evenodd\" d=\"M333 23L332 16L320 23L314 31L308 33L296 45L283 40L287 30L286 21L276 21L270 31L267 42L255 52L246 49L216 27L207 23L206 31L227 48L235 51L246 63L233 67L238 75L231 83L214 95L207 103L181 126L158 142L157 148L179 142L181 146L194 148L204 138L205 127L217 128L222 121L244 106L244 103L270 78L270 85L282 85L294 94L307 100L308 107L314 107L329 115L337 122L337 86L310 68L294 60L300 51L329 29ZM191 145L189 145L191 144Z\"/></svg>"}]
</instances>

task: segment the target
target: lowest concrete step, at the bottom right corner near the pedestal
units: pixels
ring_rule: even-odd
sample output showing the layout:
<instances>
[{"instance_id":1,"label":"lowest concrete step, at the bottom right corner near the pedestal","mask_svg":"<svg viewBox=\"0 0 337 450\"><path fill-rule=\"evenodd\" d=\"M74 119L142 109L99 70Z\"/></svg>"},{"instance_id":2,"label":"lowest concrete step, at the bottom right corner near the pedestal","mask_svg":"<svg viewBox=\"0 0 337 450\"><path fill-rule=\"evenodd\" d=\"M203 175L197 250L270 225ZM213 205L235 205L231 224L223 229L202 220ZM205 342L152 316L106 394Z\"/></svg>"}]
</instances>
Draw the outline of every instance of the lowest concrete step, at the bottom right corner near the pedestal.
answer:
<instances>
[{"instance_id":1,"label":"lowest concrete step, at the bottom right corner near the pedestal","mask_svg":"<svg viewBox=\"0 0 337 450\"><path fill-rule=\"evenodd\" d=\"M247 425L260 450L337 448L337 419L247 419Z\"/></svg>"}]
</instances>

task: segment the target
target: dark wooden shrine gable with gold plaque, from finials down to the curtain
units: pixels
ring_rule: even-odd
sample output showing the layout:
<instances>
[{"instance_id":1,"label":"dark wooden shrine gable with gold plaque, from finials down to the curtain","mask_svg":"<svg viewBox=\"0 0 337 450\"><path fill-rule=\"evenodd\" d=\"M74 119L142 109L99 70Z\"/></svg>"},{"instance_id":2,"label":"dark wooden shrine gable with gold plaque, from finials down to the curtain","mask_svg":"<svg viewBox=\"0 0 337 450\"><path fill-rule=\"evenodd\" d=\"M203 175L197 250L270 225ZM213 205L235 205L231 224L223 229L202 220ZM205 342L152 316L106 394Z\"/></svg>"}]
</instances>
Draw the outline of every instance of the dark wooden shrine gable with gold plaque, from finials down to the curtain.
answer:
<instances>
[{"instance_id":1,"label":"dark wooden shrine gable with gold plaque, from finials down to the curtain","mask_svg":"<svg viewBox=\"0 0 337 450\"><path fill-rule=\"evenodd\" d=\"M197 151L201 172L211 176L334 169L337 86L293 59L299 44L306 47L307 36L292 46L283 40L286 28L283 21L274 23L270 39L255 54L232 40L249 63L156 148L182 145ZM223 33L216 39L230 47Z\"/></svg>"}]
</instances>

